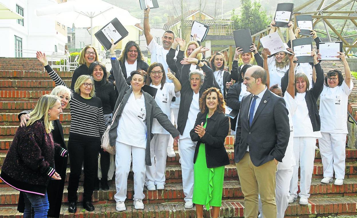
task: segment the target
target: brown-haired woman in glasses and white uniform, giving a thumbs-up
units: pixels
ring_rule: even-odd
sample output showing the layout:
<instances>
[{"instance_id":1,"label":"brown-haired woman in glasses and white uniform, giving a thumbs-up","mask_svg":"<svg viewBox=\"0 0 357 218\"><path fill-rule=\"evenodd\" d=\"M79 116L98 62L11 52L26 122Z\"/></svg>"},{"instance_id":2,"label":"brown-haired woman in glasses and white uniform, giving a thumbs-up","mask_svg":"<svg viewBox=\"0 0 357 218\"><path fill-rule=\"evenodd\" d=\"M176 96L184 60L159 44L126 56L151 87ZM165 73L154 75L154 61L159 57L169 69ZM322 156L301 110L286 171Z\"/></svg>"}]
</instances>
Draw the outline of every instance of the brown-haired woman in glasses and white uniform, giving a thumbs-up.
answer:
<instances>
[{"instance_id":1,"label":"brown-haired woman in glasses and white uniform, giving a thumbs-up","mask_svg":"<svg viewBox=\"0 0 357 218\"><path fill-rule=\"evenodd\" d=\"M181 83L168 69L165 74L164 66L160 63L152 63L147 69L149 74L147 84L157 89L155 101L170 120L170 103L175 93L181 90ZM166 76L172 82L166 82ZM170 133L164 129L154 118L152 130L154 137L150 142L151 166L146 166L145 183L149 191L165 188L165 167L167 157L167 145L170 140Z\"/></svg>"}]
</instances>

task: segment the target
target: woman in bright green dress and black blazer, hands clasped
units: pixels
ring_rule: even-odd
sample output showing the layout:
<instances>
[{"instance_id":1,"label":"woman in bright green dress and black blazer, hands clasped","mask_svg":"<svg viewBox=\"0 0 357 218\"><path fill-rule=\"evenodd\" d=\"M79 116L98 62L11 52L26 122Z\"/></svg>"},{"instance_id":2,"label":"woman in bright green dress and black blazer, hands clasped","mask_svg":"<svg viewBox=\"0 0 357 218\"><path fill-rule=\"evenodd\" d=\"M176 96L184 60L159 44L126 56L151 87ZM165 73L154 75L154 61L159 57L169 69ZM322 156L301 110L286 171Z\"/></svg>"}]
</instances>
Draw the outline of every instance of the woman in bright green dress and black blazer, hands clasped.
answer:
<instances>
[{"instance_id":1,"label":"woman in bright green dress and black blazer, hands clasped","mask_svg":"<svg viewBox=\"0 0 357 218\"><path fill-rule=\"evenodd\" d=\"M229 131L225 116L225 102L218 88L211 87L200 98L200 112L191 130L192 141L197 141L193 157L193 199L197 218L203 217L203 205L212 206L212 217L217 218L222 205L224 166L229 158L224 141Z\"/></svg>"}]
</instances>

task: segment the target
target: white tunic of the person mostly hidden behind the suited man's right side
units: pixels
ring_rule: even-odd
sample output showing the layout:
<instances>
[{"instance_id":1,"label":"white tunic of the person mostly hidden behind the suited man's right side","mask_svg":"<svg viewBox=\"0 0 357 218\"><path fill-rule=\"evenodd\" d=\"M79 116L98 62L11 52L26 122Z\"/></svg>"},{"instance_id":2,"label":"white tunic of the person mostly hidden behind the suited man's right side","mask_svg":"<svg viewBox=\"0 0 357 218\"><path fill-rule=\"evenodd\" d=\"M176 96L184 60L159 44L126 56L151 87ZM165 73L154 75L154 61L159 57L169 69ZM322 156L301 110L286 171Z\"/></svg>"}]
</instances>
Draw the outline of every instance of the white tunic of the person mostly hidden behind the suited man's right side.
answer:
<instances>
[{"instance_id":1,"label":"white tunic of the person mostly hidden behind the suited man's right side","mask_svg":"<svg viewBox=\"0 0 357 218\"><path fill-rule=\"evenodd\" d=\"M286 109L288 110L288 118L289 118L289 127L290 127L290 137L288 141L288 146L286 147L285 156L283 157L282 162L278 163L278 170L281 169L291 169L296 165L296 159L294 154L294 129L292 116L295 114L297 109L297 101L293 98L287 91L284 95Z\"/></svg>"}]
</instances>

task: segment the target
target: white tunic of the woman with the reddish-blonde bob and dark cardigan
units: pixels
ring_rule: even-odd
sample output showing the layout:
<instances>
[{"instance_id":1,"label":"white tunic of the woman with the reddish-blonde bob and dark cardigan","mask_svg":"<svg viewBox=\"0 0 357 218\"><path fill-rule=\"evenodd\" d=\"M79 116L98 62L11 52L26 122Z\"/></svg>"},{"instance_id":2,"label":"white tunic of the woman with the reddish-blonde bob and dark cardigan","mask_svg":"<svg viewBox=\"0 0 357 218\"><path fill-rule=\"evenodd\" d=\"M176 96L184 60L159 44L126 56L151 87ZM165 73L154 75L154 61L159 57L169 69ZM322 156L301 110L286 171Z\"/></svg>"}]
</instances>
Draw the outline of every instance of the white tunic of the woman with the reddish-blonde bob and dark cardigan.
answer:
<instances>
[{"instance_id":1,"label":"white tunic of the woman with the reddish-blonde bob and dark cardigan","mask_svg":"<svg viewBox=\"0 0 357 218\"><path fill-rule=\"evenodd\" d=\"M297 109L292 118L294 127L294 137L314 137L321 138L320 131L313 131L309 111L307 109L306 92L296 93Z\"/></svg>"}]
</instances>

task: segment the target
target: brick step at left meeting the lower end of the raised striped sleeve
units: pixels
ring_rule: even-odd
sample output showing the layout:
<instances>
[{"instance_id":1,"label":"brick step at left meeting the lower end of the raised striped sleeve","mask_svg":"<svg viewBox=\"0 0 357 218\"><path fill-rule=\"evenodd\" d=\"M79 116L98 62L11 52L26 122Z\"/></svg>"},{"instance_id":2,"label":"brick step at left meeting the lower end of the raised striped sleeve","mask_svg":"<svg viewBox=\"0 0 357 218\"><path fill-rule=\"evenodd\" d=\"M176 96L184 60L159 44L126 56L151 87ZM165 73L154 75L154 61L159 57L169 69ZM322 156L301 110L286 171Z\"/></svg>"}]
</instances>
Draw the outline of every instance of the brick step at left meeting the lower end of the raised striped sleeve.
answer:
<instances>
[{"instance_id":1,"label":"brick step at left meeting the lower end of the raised striped sleeve","mask_svg":"<svg viewBox=\"0 0 357 218\"><path fill-rule=\"evenodd\" d=\"M67 86L71 86L71 80L64 80ZM54 88L55 82L52 80L0 80L2 90L47 90ZM35 89L37 88L37 89ZM41 88L41 89L39 89Z\"/></svg>"}]
</instances>

